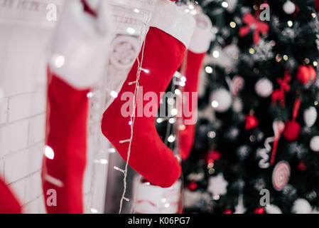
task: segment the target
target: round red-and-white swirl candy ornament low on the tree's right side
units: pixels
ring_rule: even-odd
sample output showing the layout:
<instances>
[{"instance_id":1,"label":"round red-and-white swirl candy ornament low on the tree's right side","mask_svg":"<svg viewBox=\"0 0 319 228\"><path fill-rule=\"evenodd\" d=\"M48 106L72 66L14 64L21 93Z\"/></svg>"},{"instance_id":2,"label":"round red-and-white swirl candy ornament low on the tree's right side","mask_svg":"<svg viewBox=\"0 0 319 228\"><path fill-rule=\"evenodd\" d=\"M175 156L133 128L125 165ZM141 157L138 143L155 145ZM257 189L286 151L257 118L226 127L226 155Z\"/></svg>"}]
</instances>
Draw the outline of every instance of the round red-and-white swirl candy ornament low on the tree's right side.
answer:
<instances>
[{"instance_id":1,"label":"round red-and-white swirl candy ornament low on the tree's right side","mask_svg":"<svg viewBox=\"0 0 319 228\"><path fill-rule=\"evenodd\" d=\"M277 163L272 174L272 183L275 190L281 191L287 185L290 173L288 162L281 161Z\"/></svg>"}]
</instances>

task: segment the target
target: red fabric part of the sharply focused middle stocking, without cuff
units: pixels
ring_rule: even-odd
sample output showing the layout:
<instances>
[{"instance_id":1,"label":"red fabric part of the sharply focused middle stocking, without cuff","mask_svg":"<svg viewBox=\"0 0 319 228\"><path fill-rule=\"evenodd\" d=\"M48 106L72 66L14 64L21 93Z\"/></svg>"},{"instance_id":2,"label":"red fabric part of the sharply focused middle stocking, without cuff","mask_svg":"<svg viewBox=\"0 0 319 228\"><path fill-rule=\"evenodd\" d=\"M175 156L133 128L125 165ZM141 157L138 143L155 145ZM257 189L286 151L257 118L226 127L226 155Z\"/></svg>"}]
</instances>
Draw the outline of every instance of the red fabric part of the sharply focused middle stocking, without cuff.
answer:
<instances>
[{"instance_id":1,"label":"red fabric part of the sharply focused middle stocking, without cuff","mask_svg":"<svg viewBox=\"0 0 319 228\"><path fill-rule=\"evenodd\" d=\"M161 100L160 93L165 92L173 74L180 66L185 46L173 36L155 27L149 28L144 42L144 59L141 67L148 69L149 73L141 71L139 86L143 87L143 93L139 90L137 94L137 106L141 104L139 97L151 91L156 93L158 98L156 110L152 110L153 113L157 113ZM141 55L142 51L139 53L140 60ZM129 142L120 143L119 141L131 138L131 125L129 125L130 116L121 115L122 106L128 102L121 100L121 95L125 92L134 94L136 84L129 85L129 83L136 81L137 70L136 59L118 97L104 112L102 119L102 133L112 142L125 161ZM143 110L147 103L148 101L143 102ZM170 187L180 176L180 164L173 155L173 151L159 137L155 127L155 116L139 117L138 111L136 108L129 165L153 185Z\"/></svg>"}]
</instances>

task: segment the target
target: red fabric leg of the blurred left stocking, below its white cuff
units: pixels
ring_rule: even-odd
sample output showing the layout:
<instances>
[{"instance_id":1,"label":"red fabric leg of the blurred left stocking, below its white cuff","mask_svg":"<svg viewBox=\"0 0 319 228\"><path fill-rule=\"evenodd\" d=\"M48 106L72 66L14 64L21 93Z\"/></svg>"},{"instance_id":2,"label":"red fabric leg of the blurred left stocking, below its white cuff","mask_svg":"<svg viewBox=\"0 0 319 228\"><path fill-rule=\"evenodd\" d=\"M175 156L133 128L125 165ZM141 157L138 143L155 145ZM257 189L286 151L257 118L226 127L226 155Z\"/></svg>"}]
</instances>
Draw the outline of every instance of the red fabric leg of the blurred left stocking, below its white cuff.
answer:
<instances>
[{"instance_id":1,"label":"red fabric leg of the blurred left stocking, below its white cuff","mask_svg":"<svg viewBox=\"0 0 319 228\"><path fill-rule=\"evenodd\" d=\"M69 86L48 69L48 103L46 145L54 151L53 160L44 157L42 168L43 194L57 192L57 205L45 207L50 214L82 214L82 184L86 165L87 114L89 100L87 90ZM56 186L46 175L63 182Z\"/></svg>"}]
</instances>

